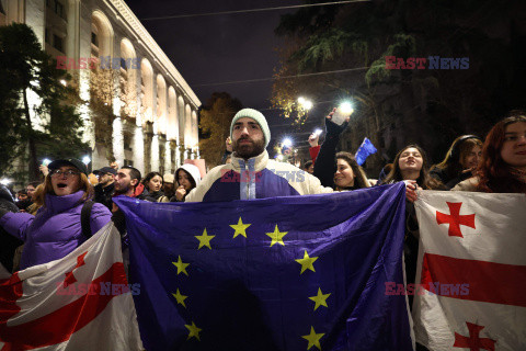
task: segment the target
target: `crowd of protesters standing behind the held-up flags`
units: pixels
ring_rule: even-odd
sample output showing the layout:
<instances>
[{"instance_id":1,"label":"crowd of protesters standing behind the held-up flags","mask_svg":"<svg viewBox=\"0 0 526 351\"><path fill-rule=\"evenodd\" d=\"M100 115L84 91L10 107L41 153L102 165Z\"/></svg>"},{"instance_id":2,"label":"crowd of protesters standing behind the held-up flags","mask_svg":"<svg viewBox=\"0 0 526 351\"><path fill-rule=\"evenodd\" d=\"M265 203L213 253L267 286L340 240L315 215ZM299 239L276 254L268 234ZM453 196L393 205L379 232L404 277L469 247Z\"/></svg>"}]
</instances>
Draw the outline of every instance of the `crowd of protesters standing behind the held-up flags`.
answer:
<instances>
[{"instance_id":1,"label":"crowd of protesters standing behind the held-up flags","mask_svg":"<svg viewBox=\"0 0 526 351\"><path fill-rule=\"evenodd\" d=\"M378 177L366 174L353 154L336 152L348 121L339 125L332 121L333 113L325 118L324 143L319 146L317 135L309 137L312 159L305 162L305 171L268 158L268 125L263 114L252 109L233 117L225 165L203 179L199 169L190 163L173 174L150 172L145 177L134 167L113 163L93 172L98 180L93 186L85 166L77 159L42 166L43 182L30 182L15 194L0 189L0 260L14 271L59 259L112 219L125 233L124 215L113 202L118 195L149 202L230 201L354 191L403 181L408 200L405 265L408 282L413 282L419 225L412 203L418 190L526 194L525 113L512 112L485 138L457 137L444 160L434 166L422 147L408 145Z\"/></svg>"}]
</instances>

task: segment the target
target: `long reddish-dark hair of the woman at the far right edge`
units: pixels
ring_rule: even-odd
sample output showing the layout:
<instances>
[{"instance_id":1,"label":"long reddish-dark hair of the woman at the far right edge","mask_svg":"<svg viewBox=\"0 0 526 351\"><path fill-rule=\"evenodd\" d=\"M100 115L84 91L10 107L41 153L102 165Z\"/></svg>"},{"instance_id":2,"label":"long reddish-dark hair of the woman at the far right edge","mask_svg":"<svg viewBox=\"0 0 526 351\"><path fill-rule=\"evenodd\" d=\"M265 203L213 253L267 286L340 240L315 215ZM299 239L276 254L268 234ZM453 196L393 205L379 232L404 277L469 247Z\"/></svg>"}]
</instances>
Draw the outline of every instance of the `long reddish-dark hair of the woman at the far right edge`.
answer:
<instances>
[{"instance_id":1,"label":"long reddish-dark hair of the woman at the far right edge","mask_svg":"<svg viewBox=\"0 0 526 351\"><path fill-rule=\"evenodd\" d=\"M482 148L482 161L477 170L477 176L479 177L477 189L479 191L489 193L526 193L524 171L507 165L501 157L506 126L519 122L526 123L526 113L512 112L510 117L495 124L488 133L484 147Z\"/></svg>"}]
</instances>

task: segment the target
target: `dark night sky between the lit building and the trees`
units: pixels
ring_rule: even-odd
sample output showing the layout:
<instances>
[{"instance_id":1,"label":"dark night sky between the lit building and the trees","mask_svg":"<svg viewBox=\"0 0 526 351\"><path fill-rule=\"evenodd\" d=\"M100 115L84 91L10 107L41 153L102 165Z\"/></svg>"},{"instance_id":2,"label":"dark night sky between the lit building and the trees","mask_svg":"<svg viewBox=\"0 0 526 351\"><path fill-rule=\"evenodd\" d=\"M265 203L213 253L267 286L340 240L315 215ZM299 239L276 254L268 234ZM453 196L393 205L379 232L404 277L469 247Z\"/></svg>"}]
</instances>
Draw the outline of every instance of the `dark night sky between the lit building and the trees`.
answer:
<instances>
[{"instance_id":1,"label":"dark night sky between the lit building and the trees","mask_svg":"<svg viewBox=\"0 0 526 351\"><path fill-rule=\"evenodd\" d=\"M245 107L260 110L271 125L273 141L291 133L288 121L270 110L272 81L210 84L271 78L277 66L276 47L285 43L274 29L279 15L297 9L255 13L219 14L167 20L146 20L167 15L197 14L302 4L300 0L265 1L173 1L126 0L202 103L215 91L226 91ZM207 84L207 86L204 86ZM208 86L210 84L210 86ZM293 137L307 146L308 134Z\"/></svg>"}]
</instances>

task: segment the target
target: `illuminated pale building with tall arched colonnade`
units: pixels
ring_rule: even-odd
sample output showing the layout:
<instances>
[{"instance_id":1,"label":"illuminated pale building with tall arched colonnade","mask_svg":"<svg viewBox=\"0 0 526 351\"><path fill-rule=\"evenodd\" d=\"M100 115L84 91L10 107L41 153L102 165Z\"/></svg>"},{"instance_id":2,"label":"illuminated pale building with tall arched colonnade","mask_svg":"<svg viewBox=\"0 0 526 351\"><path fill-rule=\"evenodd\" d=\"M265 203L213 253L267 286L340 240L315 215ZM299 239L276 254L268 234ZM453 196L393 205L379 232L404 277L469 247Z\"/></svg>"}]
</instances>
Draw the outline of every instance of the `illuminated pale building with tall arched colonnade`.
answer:
<instances>
[{"instance_id":1,"label":"illuminated pale building with tall arched colonnade","mask_svg":"<svg viewBox=\"0 0 526 351\"><path fill-rule=\"evenodd\" d=\"M112 68L112 143L95 135L90 104L81 106L91 146L92 169L119 165L141 172L173 172L198 158L199 100L123 0L0 0L0 24L22 22L46 52L77 78L90 101L93 70ZM100 128L100 126L99 126ZM108 145L112 144L112 145ZM108 149L111 148L111 149ZM110 151L110 152L108 152Z\"/></svg>"}]
</instances>

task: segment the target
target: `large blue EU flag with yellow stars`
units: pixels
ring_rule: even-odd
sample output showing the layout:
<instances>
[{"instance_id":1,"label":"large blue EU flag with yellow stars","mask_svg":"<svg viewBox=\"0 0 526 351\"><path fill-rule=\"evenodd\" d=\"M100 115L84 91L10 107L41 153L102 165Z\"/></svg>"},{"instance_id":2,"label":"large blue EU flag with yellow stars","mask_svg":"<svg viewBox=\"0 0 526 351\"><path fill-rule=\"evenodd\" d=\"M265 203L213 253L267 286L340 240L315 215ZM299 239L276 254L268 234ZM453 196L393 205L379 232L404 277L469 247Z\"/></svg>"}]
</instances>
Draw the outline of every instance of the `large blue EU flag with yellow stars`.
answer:
<instances>
[{"instance_id":1,"label":"large blue EU flag with yellow stars","mask_svg":"<svg viewBox=\"0 0 526 351\"><path fill-rule=\"evenodd\" d=\"M115 197L142 342L165 350L412 350L403 183L215 203Z\"/></svg>"}]
</instances>

